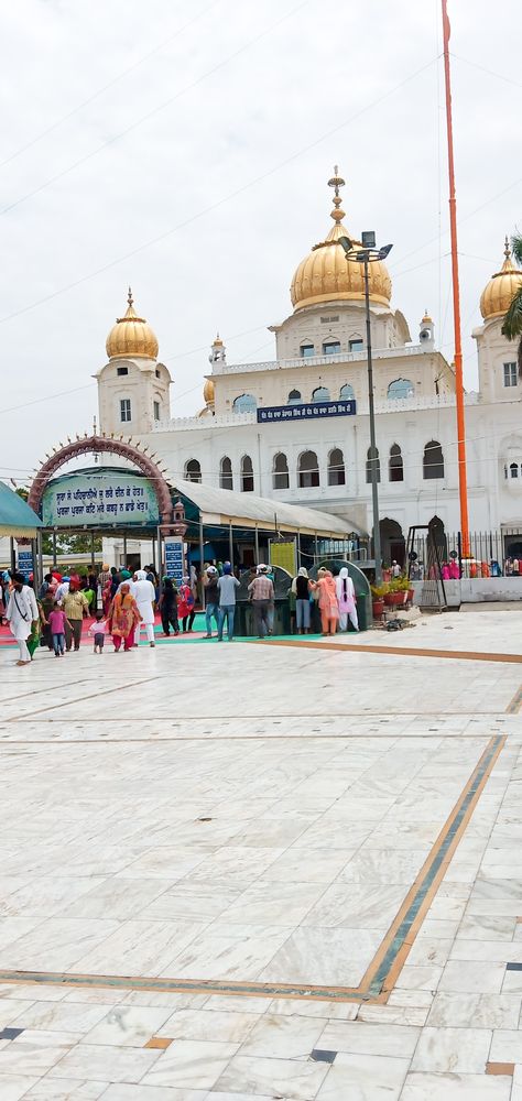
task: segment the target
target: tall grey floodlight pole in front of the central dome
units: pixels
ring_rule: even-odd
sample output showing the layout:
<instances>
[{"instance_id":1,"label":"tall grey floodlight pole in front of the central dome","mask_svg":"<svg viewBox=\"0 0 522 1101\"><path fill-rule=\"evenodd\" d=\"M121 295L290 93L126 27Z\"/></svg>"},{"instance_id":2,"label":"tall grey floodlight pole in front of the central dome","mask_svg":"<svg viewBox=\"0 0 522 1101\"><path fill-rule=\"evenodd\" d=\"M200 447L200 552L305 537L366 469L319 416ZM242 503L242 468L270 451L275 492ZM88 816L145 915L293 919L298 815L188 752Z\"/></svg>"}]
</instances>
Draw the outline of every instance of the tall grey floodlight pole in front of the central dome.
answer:
<instances>
[{"instance_id":1,"label":"tall grey floodlight pole in front of the central dome","mask_svg":"<svg viewBox=\"0 0 522 1101\"><path fill-rule=\"evenodd\" d=\"M381 530L379 526L379 458L376 444L376 407L373 403L373 363L371 358L371 314L370 314L370 280L369 266L378 260L385 260L392 246L376 248L373 231L362 233L362 246L355 246L348 237L339 237L339 244L345 251L346 260L356 260L363 265L365 273L365 306L366 306L366 345L368 363L368 407L370 414L370 475L371 505L373 516L373 557L376 560L376 585L382 585Z\"/></svg>"}]
</instances>

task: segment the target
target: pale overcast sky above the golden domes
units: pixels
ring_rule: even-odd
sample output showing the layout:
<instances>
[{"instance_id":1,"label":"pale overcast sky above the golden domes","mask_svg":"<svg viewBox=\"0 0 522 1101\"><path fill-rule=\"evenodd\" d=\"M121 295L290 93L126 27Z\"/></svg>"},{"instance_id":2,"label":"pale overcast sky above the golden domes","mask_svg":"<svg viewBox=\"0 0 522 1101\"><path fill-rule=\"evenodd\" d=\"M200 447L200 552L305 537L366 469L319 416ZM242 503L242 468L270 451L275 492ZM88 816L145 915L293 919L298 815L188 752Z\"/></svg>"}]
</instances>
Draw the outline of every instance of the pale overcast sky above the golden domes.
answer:
<instances>
[{"instance_id":1,"label":"pale overcast sky above the golden domes","mask_svg":"<svg viewBox=\"0 0 522 1101\"><path fill-rule=\"evenodd\" d=\"M173 415L274 355L293 271L331 222L393 241L392 305L453 356L439 0L20 0L2 12L0 477L97 412L132 284ZM465 378L480 292L522 224L520 0L449 0ZM48 400L42 400L48 399Z\"/></svg>"}]
</instances>

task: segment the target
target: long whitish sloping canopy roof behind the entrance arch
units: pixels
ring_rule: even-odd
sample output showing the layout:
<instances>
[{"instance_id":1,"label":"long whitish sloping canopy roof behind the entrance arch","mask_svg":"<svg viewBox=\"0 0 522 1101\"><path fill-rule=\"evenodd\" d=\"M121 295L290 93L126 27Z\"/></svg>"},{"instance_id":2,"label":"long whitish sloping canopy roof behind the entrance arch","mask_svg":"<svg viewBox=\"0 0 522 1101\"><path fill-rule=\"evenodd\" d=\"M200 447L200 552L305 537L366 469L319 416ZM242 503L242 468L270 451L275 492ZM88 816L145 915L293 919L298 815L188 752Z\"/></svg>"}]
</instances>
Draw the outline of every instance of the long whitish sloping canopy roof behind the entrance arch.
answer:
<instances>
[{"instance_id":1,"label":"long whitish sloping canopy roof behind the entrance arch","mask_svg":"<svg viewBox=\"0 0 522 1101\"><path fill-rule=\"evenodd\" d=\"M200 482L183 481L170 472L165 473L165 479L173 490L194 502L204 524L228 524L231 521L242 527L258 526L263 531L278 527L283 532L317 533L329 538L344 538L351 532L362 534L357 524L329 512L274 501L255 493L236 493Z\"/></svg>"}]
</instances>

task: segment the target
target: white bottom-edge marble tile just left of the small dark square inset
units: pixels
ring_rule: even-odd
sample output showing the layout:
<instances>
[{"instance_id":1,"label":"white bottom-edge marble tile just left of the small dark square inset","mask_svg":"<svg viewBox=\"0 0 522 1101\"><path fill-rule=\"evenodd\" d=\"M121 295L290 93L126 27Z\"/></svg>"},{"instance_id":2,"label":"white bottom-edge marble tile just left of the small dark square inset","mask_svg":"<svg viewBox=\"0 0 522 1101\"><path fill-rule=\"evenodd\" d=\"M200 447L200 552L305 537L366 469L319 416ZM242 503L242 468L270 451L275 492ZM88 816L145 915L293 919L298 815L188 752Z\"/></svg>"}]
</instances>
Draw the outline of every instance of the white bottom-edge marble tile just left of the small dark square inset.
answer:
<instances>
[{"instance_id":1,"label":"white bottom-edge marble tile just left of the small dark square inset","mask_svg":"<svg viewBox=\"0 0 522 1101\"><path fill-rule=\"evenodd\" d=\"M230 1060L218 1079L216 1091L308 1101L316 1097L327 1073L328 1067L320 1062L239 1055Z\"/></svg>"}]
</instances>

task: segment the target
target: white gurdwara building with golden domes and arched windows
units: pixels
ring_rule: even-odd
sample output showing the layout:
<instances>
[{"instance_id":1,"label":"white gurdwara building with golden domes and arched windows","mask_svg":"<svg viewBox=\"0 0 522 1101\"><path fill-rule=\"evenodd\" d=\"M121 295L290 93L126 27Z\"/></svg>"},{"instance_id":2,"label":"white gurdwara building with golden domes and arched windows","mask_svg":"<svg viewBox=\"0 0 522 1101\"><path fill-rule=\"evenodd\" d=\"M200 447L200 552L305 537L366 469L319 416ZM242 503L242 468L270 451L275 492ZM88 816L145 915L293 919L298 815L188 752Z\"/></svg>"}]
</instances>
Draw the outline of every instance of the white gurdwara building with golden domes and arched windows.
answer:
<instances>
[{"instance_id":1,"label":"white gurdwara building with golden domes and arched windows","mask_svg":"<svg viewBox=\"0 0 522 1101\"><path fill-rule=\"evenodd\" d=\"M270 326L275 359L228 363L217 337L205 408L171 418L170 373L129 295L97 374L99 425L149 444L182 479L307 504L371 532L363 265L339 244L350 233L337 170L329 185L334 225L296 268L292 314ZM427 314L412 341L390 304L385 264L372 263L369 277L382 550L402 558L411 525L459 528L455 373ZM480 298L479 389L465 403L470 527L522 541L522 383L515 347L501 333L521 280L505 242Z\"/></svg>"}]
</instances>

